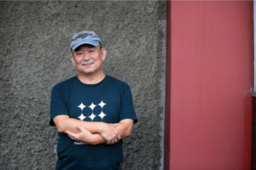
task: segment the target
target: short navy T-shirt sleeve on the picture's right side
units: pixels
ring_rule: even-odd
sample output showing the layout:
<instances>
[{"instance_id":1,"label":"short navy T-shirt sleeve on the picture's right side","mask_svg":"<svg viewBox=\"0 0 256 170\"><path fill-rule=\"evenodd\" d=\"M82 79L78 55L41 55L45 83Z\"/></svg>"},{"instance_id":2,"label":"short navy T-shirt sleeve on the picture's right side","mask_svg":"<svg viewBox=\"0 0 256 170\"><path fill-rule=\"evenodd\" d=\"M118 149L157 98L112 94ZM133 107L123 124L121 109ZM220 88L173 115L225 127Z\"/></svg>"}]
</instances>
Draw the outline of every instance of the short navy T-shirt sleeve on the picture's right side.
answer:
<instances>
[{"instance_id":1,"label":"short navy T-shirt sleeve on the picture's right side","mask_svg":"<svg viewBox=\"0 0 256 170\"><path fill-rule=\"evenodd\" d=\"M132 102L131 88L126 83L124 83L123 88L119 121L124 119L133 119L134 123L137 122L137 116Z\"/></svg>"}]
</instances>

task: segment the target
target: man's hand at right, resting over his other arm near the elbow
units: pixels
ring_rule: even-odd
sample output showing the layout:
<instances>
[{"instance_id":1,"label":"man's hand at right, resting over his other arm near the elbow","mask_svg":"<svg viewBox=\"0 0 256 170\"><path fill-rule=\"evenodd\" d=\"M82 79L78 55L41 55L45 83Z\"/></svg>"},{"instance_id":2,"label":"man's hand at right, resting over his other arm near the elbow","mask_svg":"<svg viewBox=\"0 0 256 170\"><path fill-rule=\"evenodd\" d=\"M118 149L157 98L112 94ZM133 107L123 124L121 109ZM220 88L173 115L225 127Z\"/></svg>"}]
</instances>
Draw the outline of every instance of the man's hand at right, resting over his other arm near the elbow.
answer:
<instances>
[{"instance_id":1,"label":"man's hand at right, resting over his other arm near the elbow","mask_svg":"<svg viewBox=\"0 0 256 170\"><path fill-rule=\"evenodd\" d=\"M104 123L101 127L102 138L107 140L107 144L115 144L121 139L119 132L115 129L118 127L119 123L108 124Z\"/></svg>"}]
</instances>

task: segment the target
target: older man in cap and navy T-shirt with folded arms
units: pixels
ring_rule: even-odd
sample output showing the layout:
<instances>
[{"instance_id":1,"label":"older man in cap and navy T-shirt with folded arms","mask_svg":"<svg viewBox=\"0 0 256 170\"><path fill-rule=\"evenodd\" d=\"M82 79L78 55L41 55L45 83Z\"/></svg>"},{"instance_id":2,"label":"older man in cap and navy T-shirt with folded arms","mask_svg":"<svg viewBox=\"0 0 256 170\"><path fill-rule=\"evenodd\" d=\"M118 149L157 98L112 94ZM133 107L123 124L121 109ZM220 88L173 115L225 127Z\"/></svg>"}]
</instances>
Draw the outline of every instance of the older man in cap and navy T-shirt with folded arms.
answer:
<instances>
[{"instance_id":1,"label":"older man in cap and navy T-shirt with folded arms","mask_svg":"<svg viewBox=\"0 0 256 170\"><path fill-rule=\"evenodd\" d=\"M107 50L94 31L74 34L71 51L79 74L51 93L49 124L59 131L56 169L120 169L122 139L137 122L131 89L102 71Z\"/></svg>"}]
</instances>

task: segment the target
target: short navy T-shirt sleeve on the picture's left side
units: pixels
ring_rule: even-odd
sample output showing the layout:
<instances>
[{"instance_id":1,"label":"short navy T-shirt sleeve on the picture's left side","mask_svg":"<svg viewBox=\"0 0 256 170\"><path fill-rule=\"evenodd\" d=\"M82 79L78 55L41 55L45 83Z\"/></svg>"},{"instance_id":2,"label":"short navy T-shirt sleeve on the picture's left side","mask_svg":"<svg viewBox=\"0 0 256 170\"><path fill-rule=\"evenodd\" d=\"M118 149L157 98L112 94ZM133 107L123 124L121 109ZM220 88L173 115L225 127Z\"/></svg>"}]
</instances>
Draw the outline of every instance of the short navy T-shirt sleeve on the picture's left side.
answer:
<instances>
[{"instance_id":1,"label":"short navy T-shirt sleeve on the picture's left side","mask_svg":"<svg viewBox=\"0 0 256 170\"><path fill-rule=\"evenodd\" d=\"M63 89L61 89L61 84L57 84L54 88L52 88L51 91L49 125L55 126L53 118L60 115L69 116L67 106L65 105L65 96L63 94Z\"/></svg>"}]
</instances>

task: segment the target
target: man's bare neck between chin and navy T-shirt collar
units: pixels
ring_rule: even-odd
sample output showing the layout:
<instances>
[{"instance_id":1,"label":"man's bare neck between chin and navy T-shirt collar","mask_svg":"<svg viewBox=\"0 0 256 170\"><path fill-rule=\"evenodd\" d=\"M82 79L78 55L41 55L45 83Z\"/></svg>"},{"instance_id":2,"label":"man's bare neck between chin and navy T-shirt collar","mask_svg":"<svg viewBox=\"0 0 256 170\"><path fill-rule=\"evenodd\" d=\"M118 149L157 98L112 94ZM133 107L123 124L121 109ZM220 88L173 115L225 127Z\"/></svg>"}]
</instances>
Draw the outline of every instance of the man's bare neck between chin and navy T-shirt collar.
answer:
<instances>
[{"instance_id":1,"label":"man's bare neck between chin and navy T-shirt collar","mask_svg":"<svg viewBox=\"0 0 256 170\"><path fill-rule=\"evenodd\" d=\"M96 84L98 82L101 82L105 77L106 75L103 72L96 75L95 74L86 74L86 75L79 74L78 75L79 80L84 84Z\"/></svg>"}]
</instances>

